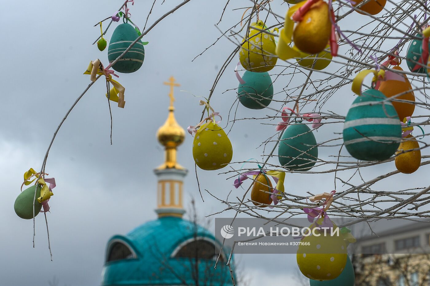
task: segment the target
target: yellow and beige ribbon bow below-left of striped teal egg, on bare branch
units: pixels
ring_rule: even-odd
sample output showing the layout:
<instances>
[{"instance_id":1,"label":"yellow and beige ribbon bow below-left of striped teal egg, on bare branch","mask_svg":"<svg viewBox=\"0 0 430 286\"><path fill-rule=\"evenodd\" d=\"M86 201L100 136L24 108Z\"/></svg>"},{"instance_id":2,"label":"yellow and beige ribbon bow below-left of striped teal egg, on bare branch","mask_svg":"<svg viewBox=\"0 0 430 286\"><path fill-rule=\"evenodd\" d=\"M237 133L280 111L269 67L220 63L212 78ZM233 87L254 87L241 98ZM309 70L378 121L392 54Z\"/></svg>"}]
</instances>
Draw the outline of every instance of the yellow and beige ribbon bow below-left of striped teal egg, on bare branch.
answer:
<instances>
[{"instance_id":1,"label":"yellow and beige ribbon bow below-left of striped teal egg, on bare branch","mask_svg":"<svg viewBox=\"0 0 430 286\"><path fill-rule=\"evenodd\" d=\"M113 85L113 88L111 88L111 90L106 93L106 97L108 97L109 100L117 102L118 107L124 108L124 105L126 104L126 102L124 101L124 92L126 89L119 82L112 79L112 75L116 77L119 76L115 74L114 70L109 70L109 67L110 66L104 68L100 60L97 59L95 61L90 61L88 67L86 68L86 71L83 74L91 75L90 80L92 82L95 82L97 80L97 75L104 75L106 77L106 81L110 82ZM109 94L111 95L110 97Z\"/></svg>"}]
</instances>

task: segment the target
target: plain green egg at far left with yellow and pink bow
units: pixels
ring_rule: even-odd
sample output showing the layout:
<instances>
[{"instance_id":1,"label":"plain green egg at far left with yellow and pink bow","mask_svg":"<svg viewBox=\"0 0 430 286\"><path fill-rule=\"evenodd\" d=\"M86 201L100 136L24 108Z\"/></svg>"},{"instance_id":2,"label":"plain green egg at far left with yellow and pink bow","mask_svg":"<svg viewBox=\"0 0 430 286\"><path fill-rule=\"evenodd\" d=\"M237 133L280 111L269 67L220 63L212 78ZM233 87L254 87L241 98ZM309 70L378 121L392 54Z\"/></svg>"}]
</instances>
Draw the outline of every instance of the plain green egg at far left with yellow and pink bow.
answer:
<instances>
[{"instance_id":1,"label":"plain green egg at far left with yellow and pink bow","mask_svg":"<svg viewBox=\"0 0 430 286\"><path fill-rule=\"evenodd\" d=\"M32 219L33 218L33 202L34 202L34 216L37 216L42 209L42 204L37 201L40 197L40 190L42 188L37 188L36 199L34 199L34 191L36 190L36 185L25 189L18 195L15 200L13 208L15 213L22 219Z\"/></svg>"}]
</instances>

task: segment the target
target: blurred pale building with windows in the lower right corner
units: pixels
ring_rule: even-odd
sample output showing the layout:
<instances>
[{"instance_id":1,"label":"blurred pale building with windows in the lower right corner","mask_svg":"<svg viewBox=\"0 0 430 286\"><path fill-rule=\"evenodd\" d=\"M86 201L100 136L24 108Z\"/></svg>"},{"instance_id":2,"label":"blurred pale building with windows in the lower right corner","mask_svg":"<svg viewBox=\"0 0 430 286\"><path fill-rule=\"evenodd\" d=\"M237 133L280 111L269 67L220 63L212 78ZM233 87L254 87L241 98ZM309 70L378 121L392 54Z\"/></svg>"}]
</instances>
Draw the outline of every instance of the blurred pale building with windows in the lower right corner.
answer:
<instances>
[{"instance_id":1,"label":"blurred pale building with windows in the lower right corner","mask_svg":"<svg viewBox=\"0 0 430 286\"><path fill-rule=\"evenodd\" d=\"M430 286L429 235L428 223L414 222L358 239L355 285Z\"/></svg>"}]
</instances>

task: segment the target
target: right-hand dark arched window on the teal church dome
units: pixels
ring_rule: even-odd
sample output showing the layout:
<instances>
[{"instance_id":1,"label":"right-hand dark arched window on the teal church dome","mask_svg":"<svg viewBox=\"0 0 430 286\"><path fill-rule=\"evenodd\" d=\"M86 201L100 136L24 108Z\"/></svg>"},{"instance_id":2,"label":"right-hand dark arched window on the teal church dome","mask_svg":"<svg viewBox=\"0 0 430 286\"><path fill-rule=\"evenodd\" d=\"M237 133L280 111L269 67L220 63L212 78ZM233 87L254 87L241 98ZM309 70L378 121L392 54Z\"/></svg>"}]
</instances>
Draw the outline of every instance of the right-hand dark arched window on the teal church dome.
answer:
<instances>
[{"instance_id":1,"label":"right-hand dark arched window on the teal church dome","mask_svg":"<svg viewBox=\"0 0 430 286\"><path fill-rule=\"evenodd\" d=\"M198 258L216 260L220 248L215 246L214 241L206 237L197 237L185 240L172 253L176 258ZM224 253L221 253L220 260L224 261Z\"/></svg>"}]
</instances>

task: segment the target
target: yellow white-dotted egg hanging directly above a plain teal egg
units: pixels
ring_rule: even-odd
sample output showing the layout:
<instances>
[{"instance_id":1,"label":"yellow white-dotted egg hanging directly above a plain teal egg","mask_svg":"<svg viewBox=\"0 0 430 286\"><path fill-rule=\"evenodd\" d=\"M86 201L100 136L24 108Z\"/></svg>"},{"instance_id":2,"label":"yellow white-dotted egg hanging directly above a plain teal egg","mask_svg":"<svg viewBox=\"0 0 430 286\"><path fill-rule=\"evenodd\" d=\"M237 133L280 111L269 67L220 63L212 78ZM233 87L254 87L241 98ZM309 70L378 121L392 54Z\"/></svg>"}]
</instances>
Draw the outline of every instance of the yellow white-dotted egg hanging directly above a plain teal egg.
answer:
<instances>
[{"instance_id":1,"label":"yellow white-dotted egg hanging directly above a plain teal egg","mask_svg":"<svg viewBox=\"0 0 430 286\"><path fill-rule=\"evenodd\" d=\"M261 30L267 29L264 27L263 21L258 21L249 27L249 34L246 37L248 40L242 44L239 53L240 64L252 72L267 72L273 69L278 60L275 53L275 39L267 32L256 30L253 27Z\"/></svg>"}]
</instances>

